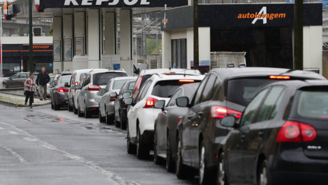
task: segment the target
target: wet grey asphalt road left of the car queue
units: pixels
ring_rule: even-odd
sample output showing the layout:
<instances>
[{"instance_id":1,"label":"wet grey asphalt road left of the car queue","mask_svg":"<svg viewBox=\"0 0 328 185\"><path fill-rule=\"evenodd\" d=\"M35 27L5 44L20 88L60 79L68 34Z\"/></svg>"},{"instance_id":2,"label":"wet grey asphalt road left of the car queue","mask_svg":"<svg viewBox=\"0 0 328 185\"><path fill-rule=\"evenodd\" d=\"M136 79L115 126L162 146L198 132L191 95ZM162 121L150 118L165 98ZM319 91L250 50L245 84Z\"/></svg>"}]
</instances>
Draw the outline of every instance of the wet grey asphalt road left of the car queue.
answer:
<instances>
[{"instance_id":1,"label":"wet grey asphalt road left of the car queue","mask_svg":"<svg viewBox=\"0 0 328 185\"><path fill-rule=\"evenodd\" d=\"M128 154L126 131L98 116L0 104L0 118L0 184L197 184Z\"/></svg>"}]
</instances>

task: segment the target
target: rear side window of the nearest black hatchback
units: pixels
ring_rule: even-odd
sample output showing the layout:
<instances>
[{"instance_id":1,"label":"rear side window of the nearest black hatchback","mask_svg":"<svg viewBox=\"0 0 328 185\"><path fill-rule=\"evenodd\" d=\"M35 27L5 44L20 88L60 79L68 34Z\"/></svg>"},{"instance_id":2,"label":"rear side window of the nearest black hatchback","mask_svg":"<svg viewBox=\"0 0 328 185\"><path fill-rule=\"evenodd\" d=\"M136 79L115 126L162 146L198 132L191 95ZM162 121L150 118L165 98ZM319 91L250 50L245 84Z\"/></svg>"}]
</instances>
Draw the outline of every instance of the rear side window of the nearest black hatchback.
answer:
<instances>
[{"instance_id":1,"label":"rear side window of the nearest black hatchback","mask_svg":"<svg viewBox=\"0 0 328 185\"><path fill-rule=\"evenodd\" d=\"M261 121L267 121L270 119L273 119L272 113L273 110L275 110L275 108L277 106L280 105L280 102L277 102L277 100L279 99L279 97L282 97L282 93L284 91L284 88L282 87L273 87L272 90L270 91L269 95L267 96L267 98L265 99L260 113L258 114L258 118L256 119L256 122L261 122ZM280 99L281 101L281 99ZM279 103L279 104L277 104ZM273 116L273 117L272 117Z\"/></svg>"}]
</instances>

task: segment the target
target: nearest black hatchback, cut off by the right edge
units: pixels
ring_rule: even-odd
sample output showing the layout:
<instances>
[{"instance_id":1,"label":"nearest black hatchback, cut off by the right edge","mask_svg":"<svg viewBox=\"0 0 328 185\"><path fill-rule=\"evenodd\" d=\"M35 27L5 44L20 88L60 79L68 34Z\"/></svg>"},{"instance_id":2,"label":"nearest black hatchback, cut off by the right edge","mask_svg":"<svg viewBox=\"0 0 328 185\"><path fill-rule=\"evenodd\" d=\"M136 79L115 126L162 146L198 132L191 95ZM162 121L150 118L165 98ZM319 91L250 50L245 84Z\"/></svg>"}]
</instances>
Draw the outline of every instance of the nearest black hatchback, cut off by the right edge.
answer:
<instances>
[{"instance_id":1,"label":"nearest black hatchback, cut off by the right edge","mask_svg":"<svg viewBox=\"0 0 328 185\"><path fill-rule=\"evenodd\" d=\"M328 82L278 82L251 100L219 147L218 179L229 184L326 184Z\"/></svg>"}]
</instances>

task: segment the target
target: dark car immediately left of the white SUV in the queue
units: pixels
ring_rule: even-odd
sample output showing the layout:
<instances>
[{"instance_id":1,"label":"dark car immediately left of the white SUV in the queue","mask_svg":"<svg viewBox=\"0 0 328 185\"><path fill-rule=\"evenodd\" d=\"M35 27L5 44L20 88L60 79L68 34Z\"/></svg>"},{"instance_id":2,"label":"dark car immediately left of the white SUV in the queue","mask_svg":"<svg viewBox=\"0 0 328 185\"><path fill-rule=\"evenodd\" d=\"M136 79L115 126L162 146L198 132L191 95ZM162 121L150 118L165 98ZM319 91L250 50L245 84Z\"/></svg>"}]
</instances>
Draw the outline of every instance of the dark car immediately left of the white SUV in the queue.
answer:
<instances>
[{"instance_id":1,"label":"dark car immediately left of the white SUV in the queue","mask_svg":"<svg viewBox=\"0 0 328 185\"><path fill-rule=\"evenodd\" d=\"M114 112L115 112L115 121L120 122L120 126L122 130L126 130L126 121L127 121L127 108L128 106L123 102L123 99L126 97L131 97L133 93L133 88L135 88L136 79L130 79L125 82L122 86L120 93L118 94L118 98L115 99L114 103ZM124 93L128 93L125 94ZM115 125L118 125L115 123Z\"/></svg>"}]
</instances>

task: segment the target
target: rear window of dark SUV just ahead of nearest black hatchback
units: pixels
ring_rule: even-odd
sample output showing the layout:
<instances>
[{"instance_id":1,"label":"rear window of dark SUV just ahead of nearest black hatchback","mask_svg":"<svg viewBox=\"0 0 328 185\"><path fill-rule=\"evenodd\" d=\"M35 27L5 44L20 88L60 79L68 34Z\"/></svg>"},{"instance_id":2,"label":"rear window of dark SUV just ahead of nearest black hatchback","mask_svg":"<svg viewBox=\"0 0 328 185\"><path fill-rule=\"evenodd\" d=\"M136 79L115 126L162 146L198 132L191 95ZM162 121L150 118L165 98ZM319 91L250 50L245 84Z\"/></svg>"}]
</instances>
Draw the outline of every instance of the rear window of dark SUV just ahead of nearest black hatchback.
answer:
<instances>
[{"instance_id":1,"label":"rear window of dark SUV just ahead of nearest black hatchback","mask_svg":"<svg viewBox=\"0 0 328 185\"><path fill-rule=\"evenodd\" d=\"M228 81L228 92L226 93L228 101L237 103L241 106L247 106L249 101L266 86L277 82L277 79L264 78L240 78L230 79Z\"/></svg>"}]
</instances>

